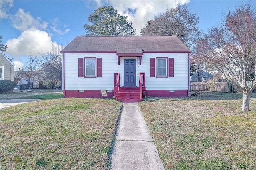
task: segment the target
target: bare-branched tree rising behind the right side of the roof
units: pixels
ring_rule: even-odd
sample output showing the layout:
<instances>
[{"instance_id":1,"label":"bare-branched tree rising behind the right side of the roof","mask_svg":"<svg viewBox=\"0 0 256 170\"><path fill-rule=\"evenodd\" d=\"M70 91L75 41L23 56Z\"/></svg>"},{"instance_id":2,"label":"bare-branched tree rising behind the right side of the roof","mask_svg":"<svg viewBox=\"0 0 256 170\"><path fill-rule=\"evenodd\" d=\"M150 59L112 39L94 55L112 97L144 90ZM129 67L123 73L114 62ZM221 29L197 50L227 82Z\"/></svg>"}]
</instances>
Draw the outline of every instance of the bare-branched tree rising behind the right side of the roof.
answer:
<instances>
[{"instance_id":1,"label":"bare-branched tree rising behind the right side of the roof","mask_svg":"<svg viewBox=\"0 0 256 170\"><path fill-rule=\"evenodd\" d=\"M167 9L165 14L160 14L155 20L148 21L141 35L176 35L193 51L194 43L200 36L196 26L198 22L199 17L191 14L186 4L178 5Z\"/></svg>"}]
</instances>

